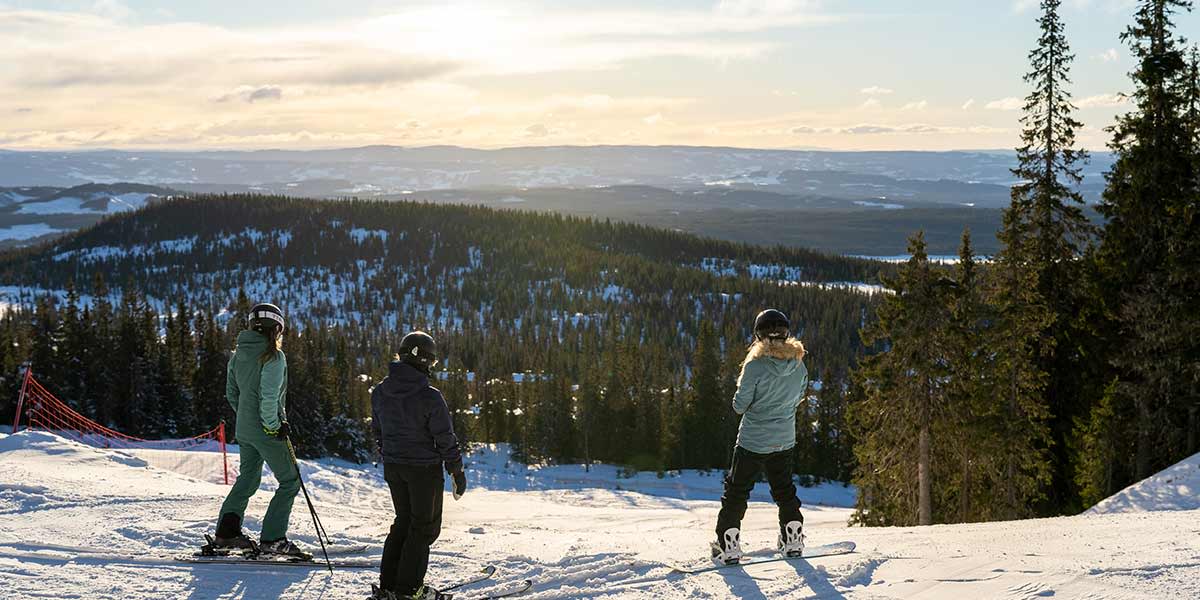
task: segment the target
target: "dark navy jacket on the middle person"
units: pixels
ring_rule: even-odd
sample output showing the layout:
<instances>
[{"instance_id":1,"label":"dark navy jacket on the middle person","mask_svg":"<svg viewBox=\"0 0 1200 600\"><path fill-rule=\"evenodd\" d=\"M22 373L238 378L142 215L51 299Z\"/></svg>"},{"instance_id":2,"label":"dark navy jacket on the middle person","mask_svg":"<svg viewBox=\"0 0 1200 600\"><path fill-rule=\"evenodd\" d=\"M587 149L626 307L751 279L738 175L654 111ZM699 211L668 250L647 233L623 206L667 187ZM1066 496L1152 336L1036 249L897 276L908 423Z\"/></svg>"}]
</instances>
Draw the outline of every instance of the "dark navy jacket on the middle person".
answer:
<instances>
[{"instance_id":1,"label":"dark navy jacket on the middle person","mask_svg":"<svg viewBox=\"0 0 1200 600\"><path fill-rule=\"evenodd\" d=\"M388 377L371 392L371 427L383 449L383 462L462 467L450 409L430 378L406 362L392 362Z\"/></svg>"}]
</instances>

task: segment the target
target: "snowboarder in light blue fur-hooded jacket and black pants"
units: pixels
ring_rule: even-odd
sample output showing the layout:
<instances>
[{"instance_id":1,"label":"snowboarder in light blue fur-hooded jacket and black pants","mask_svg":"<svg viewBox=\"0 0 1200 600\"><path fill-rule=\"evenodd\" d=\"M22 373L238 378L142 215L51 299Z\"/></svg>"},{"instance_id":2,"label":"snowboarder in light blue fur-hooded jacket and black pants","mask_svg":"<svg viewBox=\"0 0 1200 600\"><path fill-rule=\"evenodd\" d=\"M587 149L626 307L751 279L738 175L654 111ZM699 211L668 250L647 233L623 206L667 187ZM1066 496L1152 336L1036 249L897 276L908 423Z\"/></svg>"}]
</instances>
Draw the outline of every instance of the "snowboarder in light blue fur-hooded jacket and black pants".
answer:
<instances>
[{"instance_id":1,"label":"snowboarder in light blue fur-hooded jacket and black pants","mask_svg":"<svg viewBox=\"0 0 1200 600\"><path fill-rule=\"evenodd\" d=\"M755 319L755 341L742 362L733 395L733 412L742 415L742 425L716 517L713 558L719 562L734 564L742 559L742 518L763 470L770 497L779 506L780 553L799 557L804 551L804 516L792 480L792 449L796 410L809 385L809 370L804 366L804 344L790 330L787 316L774 308Z\"/></svg>"}]
</instances>

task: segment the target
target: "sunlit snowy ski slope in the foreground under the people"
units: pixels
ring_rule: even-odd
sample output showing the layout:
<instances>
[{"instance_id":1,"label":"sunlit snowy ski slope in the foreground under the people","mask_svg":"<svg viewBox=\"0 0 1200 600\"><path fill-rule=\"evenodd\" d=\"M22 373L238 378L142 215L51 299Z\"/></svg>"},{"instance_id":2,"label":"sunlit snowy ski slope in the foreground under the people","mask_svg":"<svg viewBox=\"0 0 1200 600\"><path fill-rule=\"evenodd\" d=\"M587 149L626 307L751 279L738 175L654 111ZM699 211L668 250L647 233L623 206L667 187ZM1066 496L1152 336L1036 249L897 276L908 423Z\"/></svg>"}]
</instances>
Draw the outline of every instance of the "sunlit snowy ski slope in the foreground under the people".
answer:
<instances>
[{"instance_id":1,"label":"sunlit snowy ski slope in the foreground under the people","mask_svg":"<svg viewBox=\"0 0 1200 600\"><path fill-rule=\"evenodd\" d=\"M361 599L374 581L364 570L162 560L211 532L227 488L184 474L196 467L186 461L164 470L139 452L42 432L0 436L0 598L336 600ZM532 577L530 599L1200 598L1200 512L1181 510L1195 506L1182 496L1196 488L1200 457L1189 464L1170 482L1122 492L1136 502L1118 503L1120 512L1102 505L1008 523L847 528L848 508L812 504L844 504L847 490L802 488L809 544L852 540L856 553L683 576L666 564L706 552L719 474L620 480L612 467L526 468L488 448L469 460L474 487L448 499L431 581L491 562L497 587ZM380 473L334 460L305 461L302 472L334 541L366 544L353 558L378 559L391 517ZM251 503L251 530L268 499ZM768 504L751 505L749 547L774 542L774 516ZM290 536L317 542L302 498Z\"/></svg>"}]
</instances>

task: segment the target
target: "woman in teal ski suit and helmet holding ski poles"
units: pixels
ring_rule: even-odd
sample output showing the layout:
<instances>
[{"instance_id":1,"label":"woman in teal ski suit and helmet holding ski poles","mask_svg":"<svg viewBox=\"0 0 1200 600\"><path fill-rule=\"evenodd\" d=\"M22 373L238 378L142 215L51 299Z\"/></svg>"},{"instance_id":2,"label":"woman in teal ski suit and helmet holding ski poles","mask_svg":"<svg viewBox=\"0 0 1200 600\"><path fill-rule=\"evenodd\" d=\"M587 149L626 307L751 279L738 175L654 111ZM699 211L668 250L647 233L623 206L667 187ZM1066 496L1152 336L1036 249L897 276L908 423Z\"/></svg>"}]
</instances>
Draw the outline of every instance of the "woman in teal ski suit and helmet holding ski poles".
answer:
<instances>
[{"instance_id":1,"label":"woman in teal ski suit and helmet holding ski poles","mask_svg":"<svg viewBox=\"0 0 1200 600\"><path fill-rule=\"evenodd\" d=\"M283 354L283 312L272 304L256 305L247 329L238 334L238 347L226 370L226 400L238 413L236 437L240 472L221 505L214 547L311 558L288 541L292 504L300 491L288 440L287 389L288 359ZM246 505L263 479L263 462L271 468L280 486L275 490L259 544L242 533Z\"/></svg>"}]
</instances>

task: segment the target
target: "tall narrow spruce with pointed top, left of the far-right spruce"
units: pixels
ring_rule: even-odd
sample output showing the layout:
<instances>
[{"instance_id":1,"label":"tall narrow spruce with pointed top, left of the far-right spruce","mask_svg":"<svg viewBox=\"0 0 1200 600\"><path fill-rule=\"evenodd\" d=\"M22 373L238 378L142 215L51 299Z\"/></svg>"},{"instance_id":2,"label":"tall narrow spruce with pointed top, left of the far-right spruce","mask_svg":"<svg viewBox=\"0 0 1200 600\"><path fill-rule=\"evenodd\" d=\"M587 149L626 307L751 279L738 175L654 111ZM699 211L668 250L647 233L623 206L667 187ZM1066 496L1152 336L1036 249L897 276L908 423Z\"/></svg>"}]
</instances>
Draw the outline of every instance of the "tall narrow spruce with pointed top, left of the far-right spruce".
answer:
<instances>
[{"instance_id":1,"label":"tall narrow spruce with pointed top, left of the far-right spruce","mask_svg":"<svg viewBox=\"0 0 1200 600\"><path fill-rule=\"evenodd\" d=\"M1009 319L1042 320L1045 326L1032 330L1026 340L1039 352L1028 366L1033 377L1046 378L1044 394L1052 412L1054 482L1051 511L1078 504L1073 490L1070 436L1075 421L1086 414L1081 400L1087 379L1080 377L1084 358L1079 340L1081 323L1075 316L1088 301L1082 293L1081 254L1091 244L1093 227L1084 215L1084 199L1078 191L1082 181L1081 166L1087 154L1075 148L1075 131L1082 124L1072 115L1070 64L1074 55L1058 14L1062 0L1042 0L1038 18L1040 35L1030 53L1030 72L1025 82L1033 89L1025 100L1021 118L1019 164L1013 169L1021 184L1013 187L1012 204L1000 233L998 263L1003 269L1028 270L1025 277L1007 277L1010 284L1033 286L1034 294L1007 308L1027 306L1038 314L1008 314ZM1022 290L1009 290L1009 296ZM1009 298L1012 300L1012 298ZM1022 355L1025 353L1021 353Z\"/></svg>"}]
</instances>

